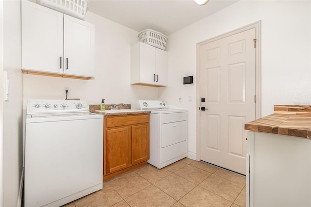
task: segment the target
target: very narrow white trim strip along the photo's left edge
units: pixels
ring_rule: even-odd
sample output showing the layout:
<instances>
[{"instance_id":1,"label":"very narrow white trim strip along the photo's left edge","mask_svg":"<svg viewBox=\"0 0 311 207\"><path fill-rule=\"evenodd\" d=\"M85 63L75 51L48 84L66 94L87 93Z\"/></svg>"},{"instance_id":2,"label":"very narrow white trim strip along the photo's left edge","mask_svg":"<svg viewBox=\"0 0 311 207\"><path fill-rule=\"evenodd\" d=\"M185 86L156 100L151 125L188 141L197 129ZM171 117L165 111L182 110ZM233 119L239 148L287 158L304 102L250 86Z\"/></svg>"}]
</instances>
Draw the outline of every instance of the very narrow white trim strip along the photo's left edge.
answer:
<instances>
[{"instance_id":1,"label":"very narrow white trim strip along the photo's left edge","mask_svg":"<svg viewBox=\"0 0 311 207\"><path fill-rule=\"evenodd\" d=\"M3 0L0 0L0 207L3 207Z\"/></svg>"}]
</instances>

